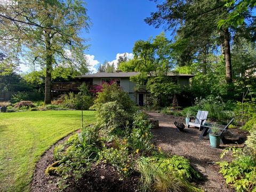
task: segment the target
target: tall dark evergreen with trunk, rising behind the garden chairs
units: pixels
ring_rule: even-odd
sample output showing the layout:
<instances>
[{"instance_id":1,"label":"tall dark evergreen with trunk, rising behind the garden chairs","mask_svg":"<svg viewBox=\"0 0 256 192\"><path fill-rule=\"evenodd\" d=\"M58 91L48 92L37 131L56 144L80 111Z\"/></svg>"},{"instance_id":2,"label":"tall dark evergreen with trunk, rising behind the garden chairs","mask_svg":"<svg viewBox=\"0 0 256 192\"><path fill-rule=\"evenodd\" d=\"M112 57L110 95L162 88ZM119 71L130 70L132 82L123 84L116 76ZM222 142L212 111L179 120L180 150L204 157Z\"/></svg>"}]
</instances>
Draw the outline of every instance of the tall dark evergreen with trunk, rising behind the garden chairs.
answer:
<instances>
[{"instance_id":1,"label":"tall dark evergreen with trunk, rising behind the garden chairs","mask_svg":"<svg viewBox=\"0 0 256 192\"><path fill-rule=\"evenodd\" d=\"M176 48L182 65L193 61L195 57L198 58L198 55L205 58L209 50L213 50L215 45L220 45L226 66L228 92L232 92L230 28L218 28L218 21L227 17L228 10L224 5L225 2L219 0L166 0L157 4L158 11L151 13L145 21L156 28L163 25L166 30L177 34L174 49Z\"/></svg>"}]
</instances>

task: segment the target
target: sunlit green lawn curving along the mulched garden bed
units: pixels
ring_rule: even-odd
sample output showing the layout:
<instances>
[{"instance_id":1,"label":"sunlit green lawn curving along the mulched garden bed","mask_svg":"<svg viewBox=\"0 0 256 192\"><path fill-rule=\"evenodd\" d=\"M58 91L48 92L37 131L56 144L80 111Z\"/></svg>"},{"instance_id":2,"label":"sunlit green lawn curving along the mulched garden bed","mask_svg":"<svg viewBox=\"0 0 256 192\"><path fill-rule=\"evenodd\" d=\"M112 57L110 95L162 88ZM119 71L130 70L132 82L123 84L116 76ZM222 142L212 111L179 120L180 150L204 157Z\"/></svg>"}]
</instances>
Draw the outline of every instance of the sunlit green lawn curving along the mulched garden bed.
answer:
<instances>
[{"instance_id":1,"label":"sunlit green lawn curving along the mulched garden bed","mask_svg":"<svg viewBox=\"0 0 256 192\"><path fill-rule=\"evenodd\" d=\"M94 111L84 119L93 123ZM81 111L0 113L0 191L28 191L44 151L80 127Z\"/></svg>"}]
</instances>

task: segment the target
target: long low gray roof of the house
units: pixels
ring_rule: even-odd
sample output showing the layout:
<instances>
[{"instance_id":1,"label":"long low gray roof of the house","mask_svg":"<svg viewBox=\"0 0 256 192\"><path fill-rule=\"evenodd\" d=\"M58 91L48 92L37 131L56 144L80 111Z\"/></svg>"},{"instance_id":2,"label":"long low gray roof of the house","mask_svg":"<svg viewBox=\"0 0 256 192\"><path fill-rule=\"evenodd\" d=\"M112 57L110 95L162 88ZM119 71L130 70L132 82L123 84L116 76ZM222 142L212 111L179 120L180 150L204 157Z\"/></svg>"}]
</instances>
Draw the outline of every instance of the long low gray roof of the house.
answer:
<instances>
[{"instance_id":1,"label":"long low gray roof of the house","mask_svg":"<svg viewBox=\"0 0 256 192\"><path fill-rule=\"evenodd\" d=\"M102 73L98 72L95 74L89 74L89 75L81 75L76 76L75 78L93 78L93 77L101 77L101 78L113 78L113 77L132 77L135 75L140 74L139 72L116 72L116 73ZM169 73L167 76L170 77L177 77L177 76L183 76L183 77L194 77L195 75L189 75L189 74L175 74L175 73Z\"/></svg>"}]
</instances>

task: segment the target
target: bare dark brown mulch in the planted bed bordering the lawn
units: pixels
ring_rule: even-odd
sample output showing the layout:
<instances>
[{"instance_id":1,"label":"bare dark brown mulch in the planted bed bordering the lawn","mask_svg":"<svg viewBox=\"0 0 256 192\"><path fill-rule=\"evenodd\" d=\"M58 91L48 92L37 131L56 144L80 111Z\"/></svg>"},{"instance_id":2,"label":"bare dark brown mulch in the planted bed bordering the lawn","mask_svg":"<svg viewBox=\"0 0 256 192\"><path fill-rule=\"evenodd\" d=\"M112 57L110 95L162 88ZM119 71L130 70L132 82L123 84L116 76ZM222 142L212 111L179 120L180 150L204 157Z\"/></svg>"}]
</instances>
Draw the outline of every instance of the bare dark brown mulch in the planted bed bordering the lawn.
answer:
<instances>
[{"instance_id":1,"label":"bare dark brown mulch in the planted bed bordering the lawn","mask_svg":"<svg viewBox=\"0 0 256 192\"><path fill-rule=\"evenodd\" d=\"M70 136L70 135L69 135ZM68 138L60 140L49 150L47 150L42 158L38 161L35 167L33 180L30 190L36 192L60 191L58 175L46 176L45 169L54 162L53 150L56 145L65 142ZM134 173L129 179L121 180L121 175L111 165L94 164L89 172L86 172L84 177L76 186L70 186L63 191L136 191L139 185L139 174Z\"/></svg>"}]
</instances>

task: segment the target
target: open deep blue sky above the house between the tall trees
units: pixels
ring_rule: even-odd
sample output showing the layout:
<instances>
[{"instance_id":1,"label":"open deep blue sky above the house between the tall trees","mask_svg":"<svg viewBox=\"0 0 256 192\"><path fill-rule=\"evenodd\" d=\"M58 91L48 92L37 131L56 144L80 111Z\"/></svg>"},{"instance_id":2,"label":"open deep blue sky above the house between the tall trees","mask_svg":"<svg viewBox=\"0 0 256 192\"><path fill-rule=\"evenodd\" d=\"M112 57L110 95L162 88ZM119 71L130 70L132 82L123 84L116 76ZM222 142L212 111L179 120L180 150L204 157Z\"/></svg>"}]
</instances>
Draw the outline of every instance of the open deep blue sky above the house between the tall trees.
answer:
<instances>
[{"instance_id":1,"label":"open deep blue sky above the house between the tall trees","mask_svg":"<svg viewBox=\"0 0 256 192\"><path fill-rule=\"evenodd\" d=\"M149 0L86 0L86 4L93 25L82 37L90 39L91 46L85 54L94 70L105 60L115 61L118 53L132 53L135 41L163 31L144 21L156 11L156 4Z\"/></svg>"}]
</instances>

